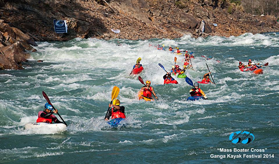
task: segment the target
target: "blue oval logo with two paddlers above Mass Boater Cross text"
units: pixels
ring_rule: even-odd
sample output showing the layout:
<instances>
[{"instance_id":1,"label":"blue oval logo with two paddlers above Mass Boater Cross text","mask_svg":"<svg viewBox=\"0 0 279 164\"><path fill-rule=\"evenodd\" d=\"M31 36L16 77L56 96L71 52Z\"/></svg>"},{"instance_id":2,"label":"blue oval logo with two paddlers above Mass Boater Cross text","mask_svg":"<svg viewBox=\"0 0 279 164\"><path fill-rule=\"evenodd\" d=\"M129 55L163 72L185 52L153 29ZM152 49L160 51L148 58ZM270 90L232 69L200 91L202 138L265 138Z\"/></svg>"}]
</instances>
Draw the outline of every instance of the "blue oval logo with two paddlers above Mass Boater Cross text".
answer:
<instances>
[{"instance_id":1,"label":"blue oval logo with two paddlers above Mass Boater Cross text","mask_svg":"<svg viewBox=\"0 0 279 164\"><path fill-rule=\"evenodd\" d=\"M237 132L233 132L232 134L230 134L230 142L232 143L243 143L243 144L247 144L250 142L253 142L255 139L255 136L252 134L254 131L251 130L251 132L247 132L247 131L237 131Z\"/></svg>"}]
</instances>

